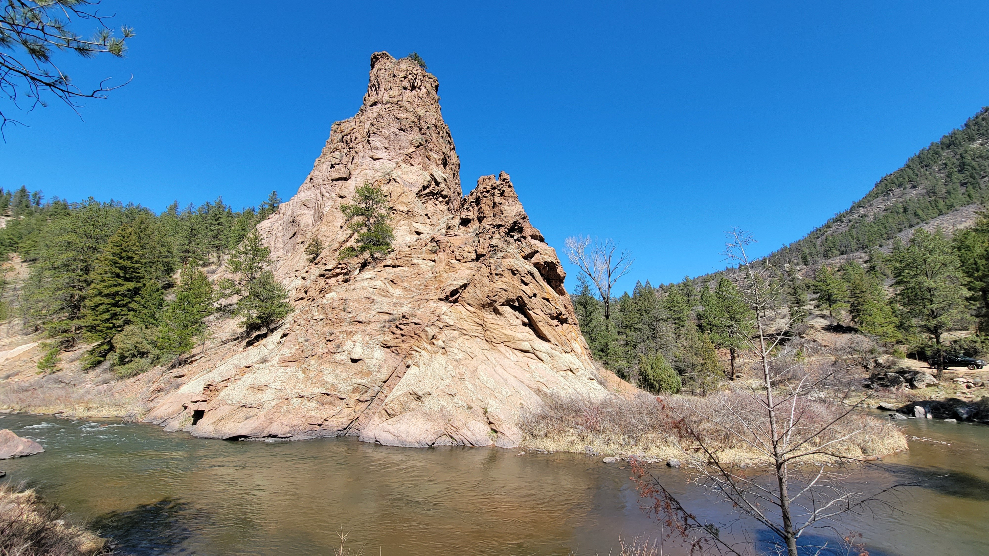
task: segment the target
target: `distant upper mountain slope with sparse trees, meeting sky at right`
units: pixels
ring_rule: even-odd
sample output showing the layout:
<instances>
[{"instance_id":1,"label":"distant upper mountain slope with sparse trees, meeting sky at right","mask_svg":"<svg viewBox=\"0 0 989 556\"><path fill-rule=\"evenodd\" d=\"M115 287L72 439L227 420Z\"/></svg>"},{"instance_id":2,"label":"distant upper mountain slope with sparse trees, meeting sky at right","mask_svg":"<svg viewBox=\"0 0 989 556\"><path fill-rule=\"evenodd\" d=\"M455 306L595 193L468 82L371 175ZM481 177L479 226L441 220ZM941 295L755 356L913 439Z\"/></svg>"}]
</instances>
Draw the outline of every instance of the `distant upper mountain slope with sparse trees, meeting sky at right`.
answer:
<instances>
[{"instance_id":1,"label":"distant upper mountain slope with sparse trees, meeting sky at right","mask_svg":"<svg viewBox=\"0 0 989 556\"><path fill-rule=\"evenodd\" d=\"M989 199L989 108L883 177L862 199L773 257L791 265L886 245L898 233Z\"/></svg>"}]
</instances>

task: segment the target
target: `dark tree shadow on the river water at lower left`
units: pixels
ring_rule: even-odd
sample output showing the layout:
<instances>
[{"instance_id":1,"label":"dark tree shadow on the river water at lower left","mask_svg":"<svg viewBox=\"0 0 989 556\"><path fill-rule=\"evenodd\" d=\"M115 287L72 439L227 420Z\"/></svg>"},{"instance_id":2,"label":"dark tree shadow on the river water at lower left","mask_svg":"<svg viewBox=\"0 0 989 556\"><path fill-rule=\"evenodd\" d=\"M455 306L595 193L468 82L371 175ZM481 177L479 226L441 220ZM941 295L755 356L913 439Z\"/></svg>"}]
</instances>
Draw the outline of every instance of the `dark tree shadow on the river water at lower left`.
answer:
<instances>
[{"instance_id":1,"label":"dark tree shadow on the river water at lower left","mask_svg":"<svg viewBox=\"0 0 989 556\"><path fill-rule=\"evenodd\" d=\"M192 549L182 544L192 536L192 525L201 519L188 503L166 498L99 516L91 525L101 535L112 537L115 548L123 554L192 554Z\"/></svg>"}]
</instances>

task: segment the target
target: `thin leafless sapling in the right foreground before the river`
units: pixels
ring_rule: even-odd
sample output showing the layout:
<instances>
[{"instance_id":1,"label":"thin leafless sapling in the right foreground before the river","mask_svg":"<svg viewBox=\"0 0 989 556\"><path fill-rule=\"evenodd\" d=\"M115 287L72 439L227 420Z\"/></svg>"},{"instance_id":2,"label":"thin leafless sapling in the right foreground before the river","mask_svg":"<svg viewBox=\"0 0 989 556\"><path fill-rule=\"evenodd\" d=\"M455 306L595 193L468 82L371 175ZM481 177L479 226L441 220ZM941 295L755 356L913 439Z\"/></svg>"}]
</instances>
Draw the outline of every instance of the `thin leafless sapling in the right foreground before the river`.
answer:
<instances>
[{"instance_id":1,"label":"thin leafless sapling in the right foreground before the river","mask_svg":"<svg viewBox=\"0 0 989 556\"><path fill-rule=\"evenodd\" d=\"M751 234L736 229L728 238L725 254L736 267L732 278L755 319L748 351L759 379L730 383L734 395L723 395L707 408L691 406L692 417L676 427L699 446L697 455L686 462L692 480L729 502L739 517L755 519L772 531L783 544L781 552L797 556L797 539L808 529L875 506L888 507L881 495L905 485L872 494L848 487L851 470L844 464L869 459L855 455L850 445L870 435L879 441L890 426L855 412L868 396L849 401L851 382L840 379L858 361L836 357L810 364L780 345L783 335L770 329L778 286L766 276L768 265L750 260ZM843 403L823 403L823 398ZM767 468L728 463L725 448L712 446L705 439L710 431L706 437L700 432L704 428L720 430L758 454ZM747 542L723 538L717 527L688 512L644 465L634 462L633 468L640 494L653 501L648 510L694 550L737 555L752 551Z\"/></svg>"}]
</instances>

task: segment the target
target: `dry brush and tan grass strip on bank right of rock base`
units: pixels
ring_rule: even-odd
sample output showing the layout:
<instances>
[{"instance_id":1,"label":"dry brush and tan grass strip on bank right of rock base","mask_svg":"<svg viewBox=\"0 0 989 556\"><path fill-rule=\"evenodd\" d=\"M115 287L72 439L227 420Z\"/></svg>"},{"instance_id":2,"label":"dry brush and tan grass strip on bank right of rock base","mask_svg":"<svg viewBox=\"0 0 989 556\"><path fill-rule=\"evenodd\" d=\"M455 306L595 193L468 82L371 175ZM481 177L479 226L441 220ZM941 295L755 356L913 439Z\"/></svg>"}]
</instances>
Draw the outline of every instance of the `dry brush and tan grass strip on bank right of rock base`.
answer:
<instances>
[{"instance_id":1,"label":"dry brush and tan grass strip on bank right of rock base","mask_svg":"<svg viewBox=\"0 0 989 556\"><path fill-rule=\"evenodd\" d=\"M795 436L811 436L847 411L844 406L801 400ZM641 394L632 400L612 396L602 402L551 399L543 408L523 416L522 446L550 451L585 452L650 459L696 459L701 444L717 450L725 463L765 461L746 441L746 425L760 425L764 412L746 395L720 392L707 397L656 398ZM743 421L745 423L743 423ZM842 437L848 438L841 439ZM907 447L899 428L868 415L852 413L808 442L825 442L829 452L843 457L872 457Z\"/></svg>"}]
</instances>

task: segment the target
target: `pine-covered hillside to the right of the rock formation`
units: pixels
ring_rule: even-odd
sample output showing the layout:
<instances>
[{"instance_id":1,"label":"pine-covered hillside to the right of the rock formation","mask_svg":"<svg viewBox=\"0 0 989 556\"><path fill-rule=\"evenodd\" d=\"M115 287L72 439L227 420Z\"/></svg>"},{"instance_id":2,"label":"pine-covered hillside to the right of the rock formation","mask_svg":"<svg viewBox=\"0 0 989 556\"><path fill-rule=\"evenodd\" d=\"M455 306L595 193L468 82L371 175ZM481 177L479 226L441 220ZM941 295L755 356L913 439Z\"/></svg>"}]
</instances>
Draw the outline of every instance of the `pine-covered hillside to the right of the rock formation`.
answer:
<instances>
[{"instance_id":1,"label":"pine-covered hillside to the right of the rock formation","mask_svg":"<svg viewBox=\"0 0 989 556\"><path fill-rule=\"evenodd\" d=\"M863 199L757 262L783 344L808 322L900 356L981 355L989 331L989 109L883 177ZM961 215L942 231L925 223ZM913 231L907 231L916 228ZM899 236L899 237L898 237ZM842 255L858 254L837 260ZM575 308L594 357L654 391L705 392L735 374L753 313L732 272L639 282L606 312L586 274ZM609 313L609 314L608 314ZM770 319L771 320L771 319Z\"/></svg>"}]
</instances>

